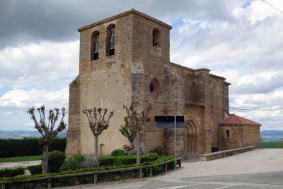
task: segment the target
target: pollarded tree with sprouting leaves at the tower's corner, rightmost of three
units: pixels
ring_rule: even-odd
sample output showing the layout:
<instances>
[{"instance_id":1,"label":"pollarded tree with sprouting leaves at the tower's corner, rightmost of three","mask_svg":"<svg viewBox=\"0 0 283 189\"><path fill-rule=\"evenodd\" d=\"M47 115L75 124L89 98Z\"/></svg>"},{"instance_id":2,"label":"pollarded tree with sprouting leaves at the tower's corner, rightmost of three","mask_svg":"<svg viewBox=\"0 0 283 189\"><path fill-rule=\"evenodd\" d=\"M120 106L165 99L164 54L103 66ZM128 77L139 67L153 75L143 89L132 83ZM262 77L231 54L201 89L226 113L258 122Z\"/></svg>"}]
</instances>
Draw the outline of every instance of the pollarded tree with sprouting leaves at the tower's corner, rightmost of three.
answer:
<instances>
[{"instance_id":1,"label":"pollarded tree with sprouting leaves at the tower's corner, rightmost of three","mask_svg":"<svg viewBox=\"0 0 283 189\"><path fill-rule=\"evenodd\" d=\"M149 118L149 112L151 110L151 106L149 105L148 108L146 108L146 111L141 111L141 113L137 113L137 110L134 110L133 105L129 106L127 108L126 105L124 105L124 108L126 110L127 116L125 120L126 124L129 125L129 128L131 128L132 131L136 131L136 139L137 139L137 164L141 163L141 130L146 124L146 122L151 122L151 119Z\"/></svg>"}]
</instances>

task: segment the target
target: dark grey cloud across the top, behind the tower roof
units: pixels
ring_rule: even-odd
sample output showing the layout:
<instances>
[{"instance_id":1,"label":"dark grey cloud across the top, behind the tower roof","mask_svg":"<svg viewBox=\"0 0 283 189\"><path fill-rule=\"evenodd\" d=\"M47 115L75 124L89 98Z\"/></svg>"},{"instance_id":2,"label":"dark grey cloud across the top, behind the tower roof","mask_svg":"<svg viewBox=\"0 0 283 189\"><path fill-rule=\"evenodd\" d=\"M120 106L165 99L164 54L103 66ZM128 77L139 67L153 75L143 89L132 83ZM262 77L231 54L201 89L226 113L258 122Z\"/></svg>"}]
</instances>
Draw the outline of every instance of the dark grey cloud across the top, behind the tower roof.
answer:
<instances>
[{"instance_id":1,"label":"dark grey cloud across the top, behind the tower roof","mask_svg":"<svg viewBox=\"0 0 283 189\"><path fill-rule=\"evenodd\" d=\"M224 0L223 0L224 1ZM42 40L69 41L79 38L76 29L116 13L137 8L164 21L180 16L229 19L221 1L0 1L0 49ZM238 3L231 1L230 4Z\"/></svg>"}]
</instances>

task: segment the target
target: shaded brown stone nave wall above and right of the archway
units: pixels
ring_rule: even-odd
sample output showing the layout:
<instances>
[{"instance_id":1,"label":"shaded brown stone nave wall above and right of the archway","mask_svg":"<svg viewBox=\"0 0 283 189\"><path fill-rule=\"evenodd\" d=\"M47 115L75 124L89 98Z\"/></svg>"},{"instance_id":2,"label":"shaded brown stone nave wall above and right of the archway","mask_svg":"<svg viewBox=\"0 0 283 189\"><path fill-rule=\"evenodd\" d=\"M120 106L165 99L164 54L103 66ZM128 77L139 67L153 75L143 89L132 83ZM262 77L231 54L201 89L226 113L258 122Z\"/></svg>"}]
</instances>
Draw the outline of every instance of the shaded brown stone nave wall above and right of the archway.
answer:
<instances>
[{"instance_id":1,"label":"shaded brown stone nave wall above and right of the archway","mask_svg":"<svg viewBox=\"0 0 283 189\"><path fill-rule=\"evenodd\" d=\"M226 105L229 103L229 85L224 83L224 78L209 74L209 69L173 66L184 82L185 116L192 115L200 125L198 153L210 152L212 147L219 148L218 124L224 119L224 110L229 110L229 105ZM197 107L202 109L202 113Z\"/></svg>"}]
</instances>

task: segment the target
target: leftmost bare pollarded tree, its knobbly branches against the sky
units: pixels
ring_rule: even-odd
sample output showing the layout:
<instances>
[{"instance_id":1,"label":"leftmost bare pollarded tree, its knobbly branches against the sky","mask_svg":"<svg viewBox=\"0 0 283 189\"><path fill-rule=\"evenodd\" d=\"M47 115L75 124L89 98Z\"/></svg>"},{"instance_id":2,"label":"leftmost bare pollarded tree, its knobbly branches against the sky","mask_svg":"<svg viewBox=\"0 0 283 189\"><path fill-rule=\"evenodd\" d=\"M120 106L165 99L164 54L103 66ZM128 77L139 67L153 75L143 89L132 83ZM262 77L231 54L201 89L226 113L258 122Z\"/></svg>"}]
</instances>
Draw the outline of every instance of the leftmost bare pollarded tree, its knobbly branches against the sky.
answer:
<instances>
[{"instance_id":1,"label":"leftmost bare pollarded tree, its knobbly branches against the sky","mask_svg":"<svg viewBox=\"0 0 283 189\"><path fill-rule=\"evenodd\" d=\"M67 124L64 123L65 108L62 108L62 118L59 125L56 127L55 124L59 120L59 109L54 108L54 110L49 110L49 115L47 116L48 124L45 122L45 105L41 105L37 108L37 112L40 115L40 122L37 122L35 118L35 108L28 108L28 113L30 118L35 122L35 129L40 132L43 142L43 160L42 160L42 173L47 173L48 169L48 144L50 139L56 137L59 132L66 129Z\"/></svg>"}]
</instances>

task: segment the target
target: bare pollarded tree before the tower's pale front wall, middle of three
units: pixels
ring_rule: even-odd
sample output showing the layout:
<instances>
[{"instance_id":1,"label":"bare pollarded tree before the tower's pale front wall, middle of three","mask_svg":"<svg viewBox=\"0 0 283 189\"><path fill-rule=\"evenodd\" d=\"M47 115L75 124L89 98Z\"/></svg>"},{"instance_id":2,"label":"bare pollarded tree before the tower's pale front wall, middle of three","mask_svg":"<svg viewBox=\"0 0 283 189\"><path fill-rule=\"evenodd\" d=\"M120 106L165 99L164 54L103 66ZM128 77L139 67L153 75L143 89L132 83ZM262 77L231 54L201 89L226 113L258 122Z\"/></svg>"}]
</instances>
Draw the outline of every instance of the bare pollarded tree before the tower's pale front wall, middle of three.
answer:
<instances>
[{"instance_id":1,"label":"bare pollarded tree before the tower's pale front wall, middle of three","mask_svg":"<svg viewBox=\"0 0 283 189\"><path fill-rule=\"evenodd\" d=\"M98 136L103 130L107 130L109 127L109 120L114 115L113 112L110 112L108 118L105 118L107 112L107 109L96 107L83 110L83 113L88 117L89 127L94 135L94 158L96 160L98 160Z\"/></svg>"}]
</instances>

